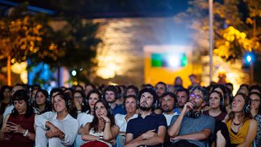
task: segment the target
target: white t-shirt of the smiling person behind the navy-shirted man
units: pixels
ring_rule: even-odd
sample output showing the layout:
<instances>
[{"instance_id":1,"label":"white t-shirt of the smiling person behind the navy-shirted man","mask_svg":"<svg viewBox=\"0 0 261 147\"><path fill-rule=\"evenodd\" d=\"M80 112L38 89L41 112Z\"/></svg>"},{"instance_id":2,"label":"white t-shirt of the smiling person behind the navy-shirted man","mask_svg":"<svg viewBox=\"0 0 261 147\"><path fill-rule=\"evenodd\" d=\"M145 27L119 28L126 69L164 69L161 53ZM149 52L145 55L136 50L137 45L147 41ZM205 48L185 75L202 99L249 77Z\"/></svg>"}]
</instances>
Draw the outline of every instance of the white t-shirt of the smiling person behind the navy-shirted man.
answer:
<instances>
[{"instance_id":1,"label":"white t-shirt of the smiling person behind the navy-shirted man","mask_svg":"<svg viewBox=\"0 0 261 147\"><path fill-rule=\"evenodd\" d=\"M115 123L116 123L116 125L119 126L119 131L120 131L120 132L126 132L127 123L128 123L128 122L126 122L126 120L125 120L125 117L126 117L126 116L127 116L127 114L124 115L124 114L119 114L119 113L114 116L114 118L115 118ZM137 118L137 114L134 114L131 118L128 119L128 121L131 120L131 119L133 119L133 118Z\"/></svg>"}]
</instances>

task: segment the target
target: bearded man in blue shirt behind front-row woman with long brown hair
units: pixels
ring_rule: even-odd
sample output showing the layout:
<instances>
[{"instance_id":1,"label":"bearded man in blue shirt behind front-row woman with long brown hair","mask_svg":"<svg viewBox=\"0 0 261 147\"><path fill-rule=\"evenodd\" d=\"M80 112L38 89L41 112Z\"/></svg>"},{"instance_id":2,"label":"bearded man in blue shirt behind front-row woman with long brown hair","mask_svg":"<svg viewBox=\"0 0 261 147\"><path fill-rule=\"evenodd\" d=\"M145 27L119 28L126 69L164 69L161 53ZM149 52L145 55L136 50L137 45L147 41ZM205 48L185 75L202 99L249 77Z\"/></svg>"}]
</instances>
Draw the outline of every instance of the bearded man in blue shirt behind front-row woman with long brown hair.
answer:
<instances>
[{"instance_id":1,"label":"bearded man in blue shirt behind front-row woman with long brown hair","mask_svg":"<svg viewBox=\"0 0 261 147\"><path fill-rule=\"evenodd\" d=\"M116 100L119 98L117 87L114 85L108 85L105 89L105 100L110 104L112 108L112 114L126 114L126 110L122 105L118 105Z\"/></svg>"}]
</instances>

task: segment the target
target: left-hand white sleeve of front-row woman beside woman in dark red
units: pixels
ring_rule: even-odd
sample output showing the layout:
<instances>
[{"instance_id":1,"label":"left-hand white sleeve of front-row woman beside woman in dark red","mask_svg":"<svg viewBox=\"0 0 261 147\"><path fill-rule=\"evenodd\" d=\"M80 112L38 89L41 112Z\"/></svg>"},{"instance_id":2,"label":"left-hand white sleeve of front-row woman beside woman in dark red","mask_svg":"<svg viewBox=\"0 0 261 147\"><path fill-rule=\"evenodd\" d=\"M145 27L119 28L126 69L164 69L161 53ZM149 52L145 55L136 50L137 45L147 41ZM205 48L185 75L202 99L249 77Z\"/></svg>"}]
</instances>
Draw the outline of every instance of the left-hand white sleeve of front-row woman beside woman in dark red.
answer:
<instances>
[{"instance_id":1,"label":"left-hand white sleeve of front-row woman beside woman in dark red","mask_svg":"<svg viewBox=\"0 0 261 147\"><path fill-rule=\"evenodd\" d=\"M45 112L41 115L36 116L34 122L36 123L36 127L40 127L43 130L46 130L45 123L52 119L53 113L52 112Z\"/></svg>"}]
</instances>

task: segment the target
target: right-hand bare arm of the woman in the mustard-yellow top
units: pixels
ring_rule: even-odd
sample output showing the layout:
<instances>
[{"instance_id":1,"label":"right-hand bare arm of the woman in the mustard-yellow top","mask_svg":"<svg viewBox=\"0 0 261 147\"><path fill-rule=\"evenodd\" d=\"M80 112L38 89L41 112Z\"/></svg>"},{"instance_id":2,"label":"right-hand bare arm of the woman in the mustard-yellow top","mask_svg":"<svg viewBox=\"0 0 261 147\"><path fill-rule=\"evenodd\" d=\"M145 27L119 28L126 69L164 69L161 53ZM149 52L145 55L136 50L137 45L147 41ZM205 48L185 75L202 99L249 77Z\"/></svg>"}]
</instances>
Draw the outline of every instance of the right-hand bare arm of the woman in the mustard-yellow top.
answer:
<instances>
[{"instance_id":1,"label":"right-hand bare arm of the woman in the mustard-yellow top","mask_svg":"<svg viewBox=\"0 0 261 147\"><path fill-rule=\"evenodd\" d=\"M244 141L244 143L242 144L239 144L237 147L250 146L255 139L255 135L257 134L257 127L258 127L257 121L251 119L251 122L249 124L248 134L246 135L246 141Z\"/></svg>"}]
</instances>

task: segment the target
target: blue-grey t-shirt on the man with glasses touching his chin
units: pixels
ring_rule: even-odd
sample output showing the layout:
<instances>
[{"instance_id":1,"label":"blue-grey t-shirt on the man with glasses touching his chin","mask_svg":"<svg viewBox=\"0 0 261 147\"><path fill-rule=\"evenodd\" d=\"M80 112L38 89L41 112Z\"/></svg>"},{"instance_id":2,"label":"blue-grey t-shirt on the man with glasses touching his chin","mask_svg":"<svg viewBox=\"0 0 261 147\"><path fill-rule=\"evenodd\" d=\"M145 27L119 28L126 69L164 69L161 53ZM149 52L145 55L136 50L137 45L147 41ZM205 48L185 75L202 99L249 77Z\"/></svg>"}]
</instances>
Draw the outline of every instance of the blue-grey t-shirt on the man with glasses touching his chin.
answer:
<instances>
[{"instance_id":1,"label":"blue-grey t-shirt on the man with glasses touching his chin","mask_svg":"<svg viewBox=\"0 0 261 147\"><path fill-rule=\"evenodd\" d=\"M170 126L172 126L172 124L175 123L177 118L179 118L179 115L172 117ZM188 116L184 116L181 122L179 136L201 132L204 129L209 129L212 132L212 134L214 133L215 119L212 116L206 116L204 114L201 114L199 118L188 118ZM175 140L173 143L177 141L179 140ZM187 140L187 141L190 142L191 144L195 144L200 147L207 146L207 140L204 141Z\"/></svg>"}]
</instances>

